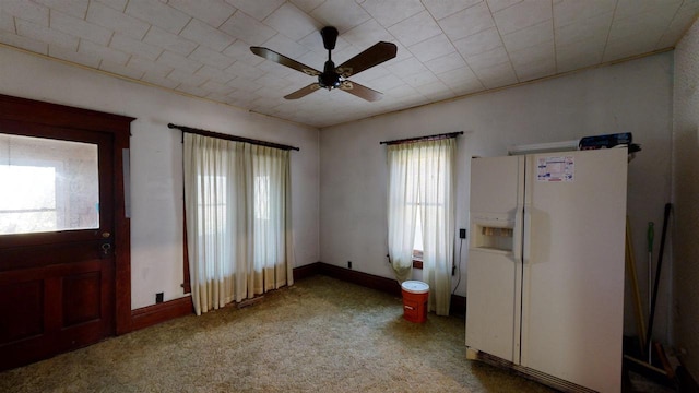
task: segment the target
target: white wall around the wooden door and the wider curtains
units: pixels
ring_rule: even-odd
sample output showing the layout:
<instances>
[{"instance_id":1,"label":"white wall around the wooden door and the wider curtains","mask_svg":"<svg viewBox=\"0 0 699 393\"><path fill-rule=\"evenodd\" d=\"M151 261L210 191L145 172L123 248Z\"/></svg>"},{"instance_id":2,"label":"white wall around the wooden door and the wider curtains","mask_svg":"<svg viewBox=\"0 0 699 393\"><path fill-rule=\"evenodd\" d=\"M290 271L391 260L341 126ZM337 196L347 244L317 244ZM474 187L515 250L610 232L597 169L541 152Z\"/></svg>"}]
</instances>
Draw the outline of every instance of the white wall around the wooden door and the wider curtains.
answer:
<instances>
[{"instance_id":1,"label":"white wall around the wooden door and the wider curtains","mask_svg":"<svg viewBox=\"0 0 699 393\"><path fill-rule=\"evenodd\" d=\"M131 123L131 306L182 297L181 133L167 123L277 142L292 152L296 265L319 260L318 130L0 47L0 94L137 118Z\"/></svg>"}]
</instances>

